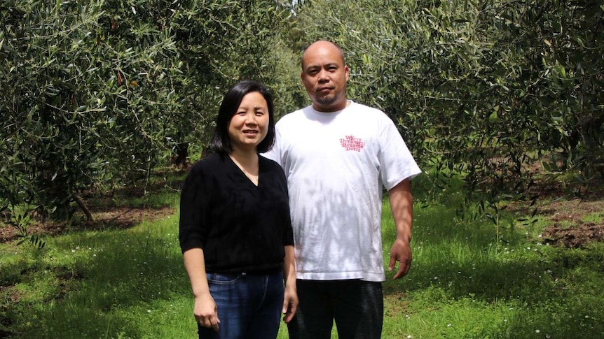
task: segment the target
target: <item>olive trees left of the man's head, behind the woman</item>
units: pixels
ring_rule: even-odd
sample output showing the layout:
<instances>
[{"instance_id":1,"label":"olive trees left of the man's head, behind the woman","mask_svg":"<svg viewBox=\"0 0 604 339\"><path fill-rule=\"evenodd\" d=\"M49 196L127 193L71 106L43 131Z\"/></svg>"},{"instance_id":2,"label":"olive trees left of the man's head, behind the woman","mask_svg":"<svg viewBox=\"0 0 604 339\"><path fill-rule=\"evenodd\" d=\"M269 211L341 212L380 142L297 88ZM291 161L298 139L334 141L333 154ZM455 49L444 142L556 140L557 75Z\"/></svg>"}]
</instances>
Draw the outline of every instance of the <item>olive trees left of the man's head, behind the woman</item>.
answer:
<instances>
[{"instance_id":1,"label":"olive trees left of the man's head, behind the woman","mask_svg":"<svg viewBox=\"0 0 604 339\"><path fill-rule=\"evenodd\" d=\"M289 15L274 1L5 1L0 210L13 224L15 208L65 219L77 203L90 217L81 192L203 147L235 81L287 94Z\"/></svg>"}]
</instances>

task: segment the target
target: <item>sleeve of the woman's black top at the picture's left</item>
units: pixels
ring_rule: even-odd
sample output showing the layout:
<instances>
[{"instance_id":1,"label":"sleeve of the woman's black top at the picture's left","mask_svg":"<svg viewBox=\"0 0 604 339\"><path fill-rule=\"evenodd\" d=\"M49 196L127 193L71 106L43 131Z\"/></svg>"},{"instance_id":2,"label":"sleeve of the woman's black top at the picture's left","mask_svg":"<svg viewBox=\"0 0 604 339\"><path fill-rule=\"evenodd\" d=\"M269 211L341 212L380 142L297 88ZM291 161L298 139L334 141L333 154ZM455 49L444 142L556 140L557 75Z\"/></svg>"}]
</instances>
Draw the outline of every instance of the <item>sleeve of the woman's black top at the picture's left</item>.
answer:
<instances>
[{"instance_id":1,"label":"sleeve of the woman's black top at the picture's left","mask_svg":"<svg viewBox=\"0 0 604 339\"><path fill-rule=\"evenodd\" d=\"M200 166L193 166L181 190L179 241L184 253L191 248L203 248L207 237L210 213L210 187Z\"/></svg>"}]
</instances>

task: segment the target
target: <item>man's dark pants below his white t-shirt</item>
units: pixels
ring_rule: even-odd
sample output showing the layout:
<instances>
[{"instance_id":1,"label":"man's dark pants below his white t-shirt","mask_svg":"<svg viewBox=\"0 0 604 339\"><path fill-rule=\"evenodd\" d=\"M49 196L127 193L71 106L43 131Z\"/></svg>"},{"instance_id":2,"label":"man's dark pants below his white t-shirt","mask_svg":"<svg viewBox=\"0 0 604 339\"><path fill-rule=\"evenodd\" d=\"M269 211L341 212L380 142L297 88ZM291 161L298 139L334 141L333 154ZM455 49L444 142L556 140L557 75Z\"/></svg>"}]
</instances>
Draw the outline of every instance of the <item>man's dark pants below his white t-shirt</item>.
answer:
<instances>
[{"instance_id":1,"label":"man's dark pants below his white t-shirt","mask_svg":"<svg viewBox=\"0 0 604 339\"><path fill-rule=\"evenodd\" d=\"M297 280L298 312L290 339L329 339L336 321L340 339L379 339L384 319L381 282Z\"/></svg>"}]
</instances>

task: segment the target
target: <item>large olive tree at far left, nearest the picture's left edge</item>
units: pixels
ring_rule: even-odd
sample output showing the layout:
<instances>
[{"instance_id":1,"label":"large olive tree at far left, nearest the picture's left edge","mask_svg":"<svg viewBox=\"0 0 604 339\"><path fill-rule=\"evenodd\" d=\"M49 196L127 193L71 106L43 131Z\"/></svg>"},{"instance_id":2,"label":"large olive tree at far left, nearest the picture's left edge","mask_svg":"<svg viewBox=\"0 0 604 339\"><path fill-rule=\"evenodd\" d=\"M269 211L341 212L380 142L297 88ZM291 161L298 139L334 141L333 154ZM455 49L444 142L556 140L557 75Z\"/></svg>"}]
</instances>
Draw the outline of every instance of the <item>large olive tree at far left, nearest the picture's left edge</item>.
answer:
<instances>
[{"instance_id":1,"label":"large olive tree at far left, nearest the picture's left edge","mask_svg":"<svg viewBox=\"0 0 604 339\"><path fill-rule=\"evenodd\" d=\"M156 117L177 108L174 43L104 6L8 1L1 11L4 206L64 218L72 201L85 210L78 192L151 163Z\"/></svg>"}]
</instances>

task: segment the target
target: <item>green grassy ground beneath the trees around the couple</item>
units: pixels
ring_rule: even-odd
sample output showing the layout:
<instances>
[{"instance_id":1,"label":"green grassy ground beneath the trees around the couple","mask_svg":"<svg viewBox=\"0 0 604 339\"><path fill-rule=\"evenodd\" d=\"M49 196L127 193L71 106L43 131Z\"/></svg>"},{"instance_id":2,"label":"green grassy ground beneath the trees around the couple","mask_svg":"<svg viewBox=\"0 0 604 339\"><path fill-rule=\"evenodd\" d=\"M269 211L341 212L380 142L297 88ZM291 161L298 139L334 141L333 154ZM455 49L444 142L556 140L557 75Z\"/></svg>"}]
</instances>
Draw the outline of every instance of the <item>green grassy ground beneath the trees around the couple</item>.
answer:
<instances>
[{"instance_id":1,"label":"green grassy ground beneath the trees around the couple","mask_svg":"<svg viewBox=\"0 0 604 339\"><path fill-rule=\"evenodd\" d=\"M563 201L546 200L538 222L523 225L519 209L500 215L495 231L485 217L455 213L458 189L430 199L425 190L418 181L411 273L384 284L383 338L604 338L604 244L566 248L544 237L554 224L601 226L602 209L576 219L577 208L546 210ZM142 222L74 224L46 236L43 250L0 243L0 338L195 338L178 192L158 192L111 198ZM387 204L383 219L387 257ZM284 326L279 338L287 338Z\"/></svg>"}]
</instances>

